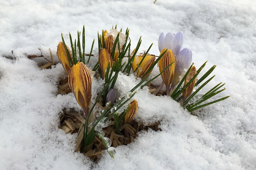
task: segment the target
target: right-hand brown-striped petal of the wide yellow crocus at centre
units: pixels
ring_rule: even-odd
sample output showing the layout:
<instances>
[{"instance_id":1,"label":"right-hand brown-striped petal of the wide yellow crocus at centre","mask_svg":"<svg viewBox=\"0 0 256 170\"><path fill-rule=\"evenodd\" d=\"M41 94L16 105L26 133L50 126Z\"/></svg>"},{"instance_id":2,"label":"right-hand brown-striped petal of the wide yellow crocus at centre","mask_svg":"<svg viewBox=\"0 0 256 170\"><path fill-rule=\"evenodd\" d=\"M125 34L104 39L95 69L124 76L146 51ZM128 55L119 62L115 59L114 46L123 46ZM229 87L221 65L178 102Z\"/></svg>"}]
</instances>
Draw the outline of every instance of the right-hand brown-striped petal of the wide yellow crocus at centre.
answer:
<instances>
[{"instance_id":1,"label":"right-hand brown-striped petal of the wide yellow crocus at centre","mask_svg":"<svg viewBox=\"0 0 256 170\"><path fill-rule=\"evenodd\" d=\"M152 64L155 62L155 56L154 55L146 55L142 63L140 64L140 67L137 70L137 77L142 77L144 74L148 71L148 68L152 66ZM144 77L148 76L153 69L150 70Z\"/></svg>"}]
</instances>

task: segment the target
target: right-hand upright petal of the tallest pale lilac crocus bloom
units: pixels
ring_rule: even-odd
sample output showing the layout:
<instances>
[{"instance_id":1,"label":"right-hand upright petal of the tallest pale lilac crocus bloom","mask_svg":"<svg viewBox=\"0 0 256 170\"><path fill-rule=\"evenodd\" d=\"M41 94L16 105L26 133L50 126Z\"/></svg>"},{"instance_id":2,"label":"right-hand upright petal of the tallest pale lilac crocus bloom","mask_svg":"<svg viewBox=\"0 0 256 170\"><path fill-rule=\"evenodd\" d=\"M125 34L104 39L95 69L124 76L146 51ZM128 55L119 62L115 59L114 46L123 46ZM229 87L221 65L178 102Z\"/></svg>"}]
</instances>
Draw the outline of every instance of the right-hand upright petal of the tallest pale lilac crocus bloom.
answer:
<instances>
[{"instance_id":1,"label":"right-hand upright petal of the tallest pale lilac crocus bloom","mask_svg":"<svg viewBox=\"0 0 256 170\"><path fill-rule=\"evenodd\" d=\"M184 36L182 31L179 31L174 35L172 38L172 41L170 42L170 49L172 50L172 53L176 57L180 50L182 49Z\"/></svg>"}]
</instances>

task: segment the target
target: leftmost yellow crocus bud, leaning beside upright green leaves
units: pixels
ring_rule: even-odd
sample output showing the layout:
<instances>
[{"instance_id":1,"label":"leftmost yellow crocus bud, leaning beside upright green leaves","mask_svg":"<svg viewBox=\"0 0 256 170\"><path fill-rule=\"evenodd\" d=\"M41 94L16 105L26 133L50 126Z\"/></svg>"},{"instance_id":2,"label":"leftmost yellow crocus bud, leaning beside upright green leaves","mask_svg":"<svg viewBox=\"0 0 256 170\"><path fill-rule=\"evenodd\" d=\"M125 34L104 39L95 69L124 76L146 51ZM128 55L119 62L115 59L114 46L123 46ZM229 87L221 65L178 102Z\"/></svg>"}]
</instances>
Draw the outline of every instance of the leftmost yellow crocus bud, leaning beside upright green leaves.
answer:
<instances>
[{"instance_id":1,"label":"leftmost yellow crocus bud, leaning beside upright green leaves","mask_svg":"<svg viewBox=\"0 0 256 170\"><path fill-rule=\"evenodd\" d=\"M68 49L68 53L69 53L70 59L72 61L72 54L70 53L70 49L68 48L68 46L66 46L66 47ZM64 44L62 42L59 42L59 44L58 44L57 56L58 56L58 58L60 60L60 63L62 64L64 70L68 74L69 70L71 68L71 65L70 65L70 63L68 61L68 55L66 53L66 49L65 49ZM73 61L72 61L72 63L73 63Z\"/></svg>"}]
</instances>

